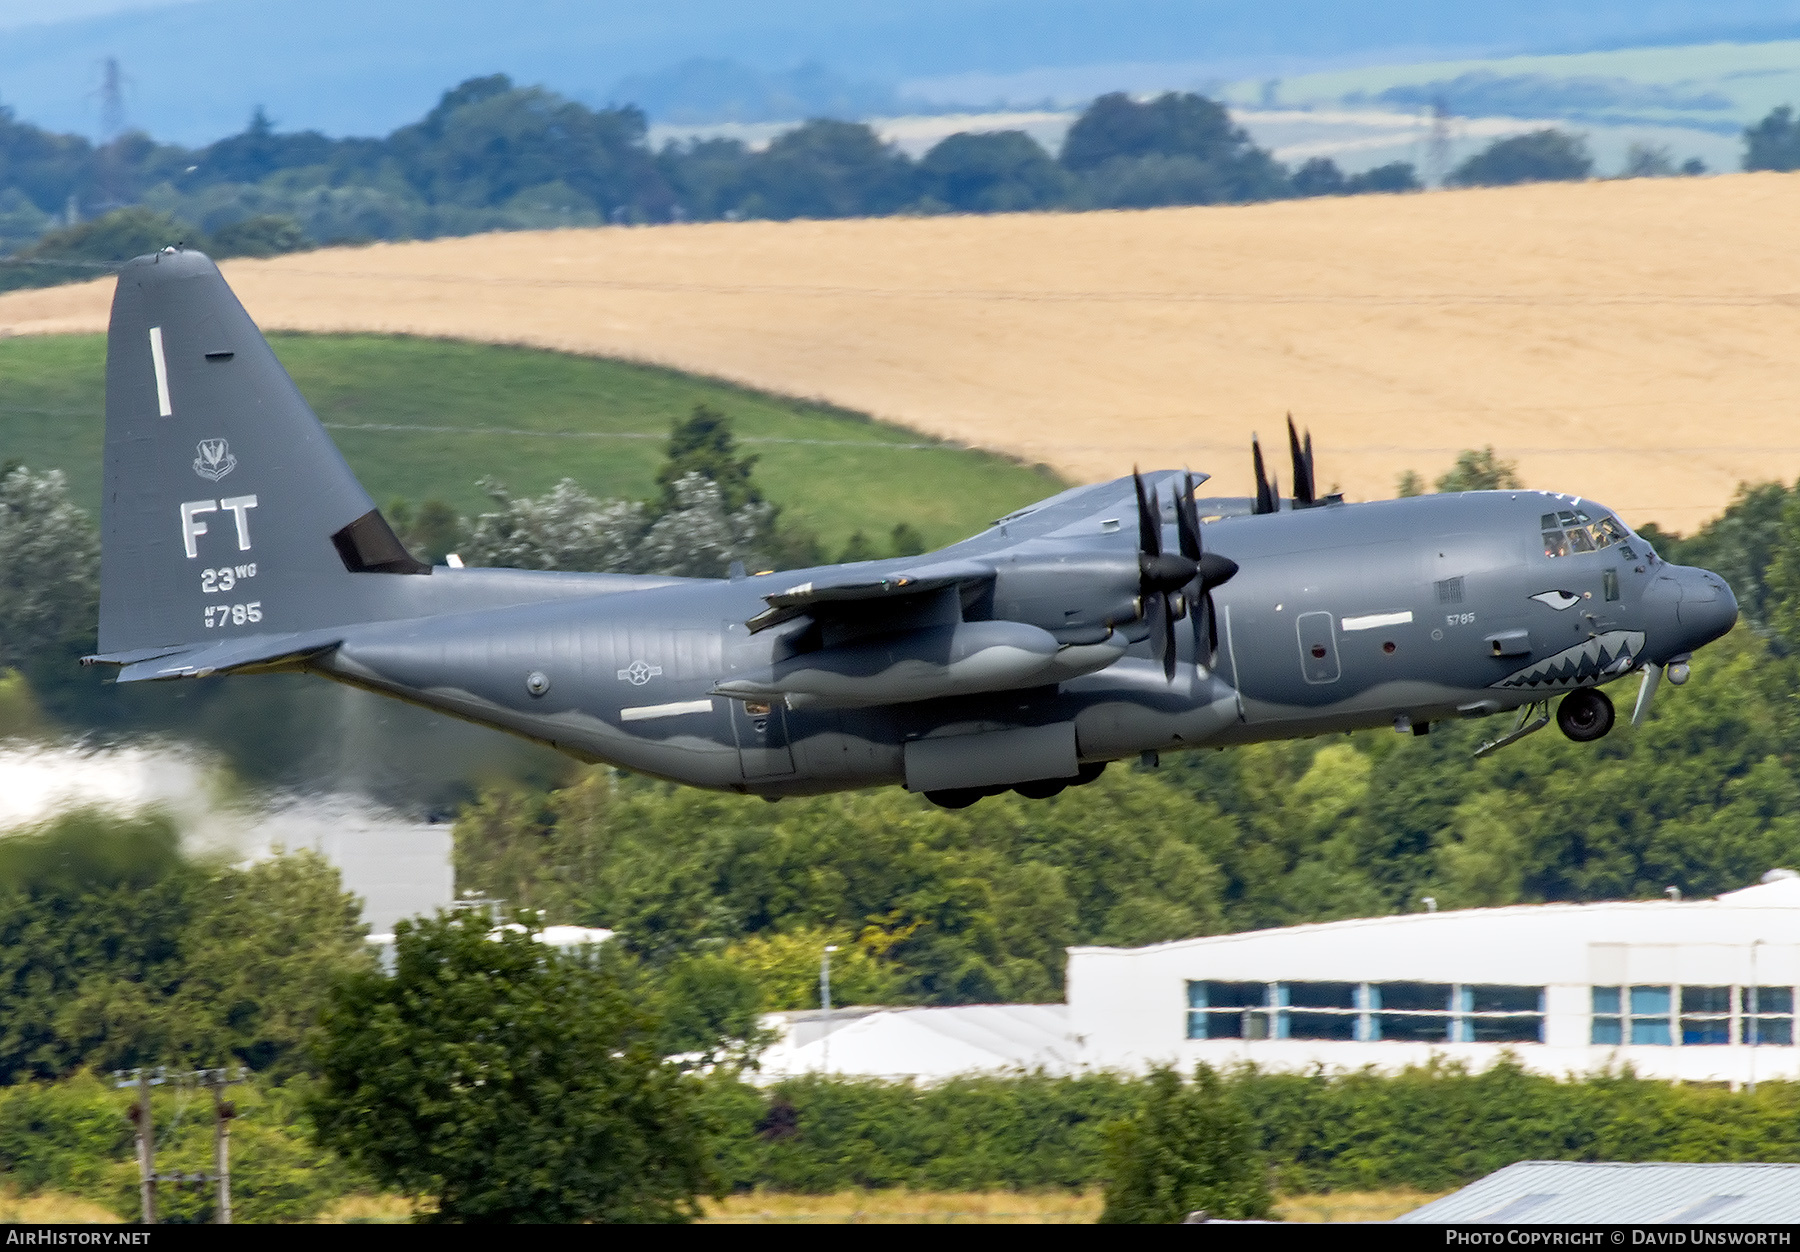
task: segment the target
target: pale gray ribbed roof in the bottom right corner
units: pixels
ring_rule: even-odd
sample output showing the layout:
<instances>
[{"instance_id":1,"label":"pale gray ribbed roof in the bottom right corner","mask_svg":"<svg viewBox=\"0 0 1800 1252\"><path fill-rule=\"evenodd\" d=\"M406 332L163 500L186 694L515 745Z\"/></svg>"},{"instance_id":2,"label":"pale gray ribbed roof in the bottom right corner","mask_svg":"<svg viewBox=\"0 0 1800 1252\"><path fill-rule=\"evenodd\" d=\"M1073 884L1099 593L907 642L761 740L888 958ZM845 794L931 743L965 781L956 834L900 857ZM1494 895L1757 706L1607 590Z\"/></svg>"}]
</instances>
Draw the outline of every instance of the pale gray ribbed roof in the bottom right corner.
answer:
<instances>
[{"instance_id":1,"label":"pale gray ribbed roof in the bottom right corner","mask_svg":"<svg viewBox=\"0 0 1800 1252\"><path fill-rule=\"evenodd\" d=\"M1800 1221L1800 1166L1521 1160L1397 1220L1793 1223Z\"/></svg>"}]
</instances>

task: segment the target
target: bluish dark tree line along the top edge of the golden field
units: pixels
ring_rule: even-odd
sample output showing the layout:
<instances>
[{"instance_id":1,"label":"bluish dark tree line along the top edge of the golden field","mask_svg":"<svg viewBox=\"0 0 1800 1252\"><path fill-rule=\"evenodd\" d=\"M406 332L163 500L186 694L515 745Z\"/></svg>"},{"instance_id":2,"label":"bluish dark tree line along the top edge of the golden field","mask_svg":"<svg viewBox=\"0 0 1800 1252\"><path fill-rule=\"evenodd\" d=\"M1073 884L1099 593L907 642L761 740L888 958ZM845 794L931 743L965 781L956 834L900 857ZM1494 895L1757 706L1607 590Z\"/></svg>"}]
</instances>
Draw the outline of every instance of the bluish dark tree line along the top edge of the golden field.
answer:
<instances>
[{"instance_id":1,"label":"bluish dark tree line along the top edge of the golden field","mask_svg":"<svg viewBox=\"0 0 1800 1252\"><path fill-rule=\"evenodd\" d=\"M1787 106L1744 131L1744 169L1800 167ZM1589 178L1580 135L1490 142L1451 185ZM1697 174L1634 146L1622 176ZM250 124L205 148L133 131L106 144L0 108L0 290L92 277L173 239L216 255L565 225L855 218L1244 203L1420 187L1409 162L1346 174L1289 167L1202 95L1094 99L1049 153L1024 131L958 133L913 160L864 122L814 119L754 149L734 139L652 149L634 106L589 108L504 74L468 79L380 139ZM97 221L95 221L97 219ZM155 245L146 245L153 239Z\"/></svg>"}]
</instances>

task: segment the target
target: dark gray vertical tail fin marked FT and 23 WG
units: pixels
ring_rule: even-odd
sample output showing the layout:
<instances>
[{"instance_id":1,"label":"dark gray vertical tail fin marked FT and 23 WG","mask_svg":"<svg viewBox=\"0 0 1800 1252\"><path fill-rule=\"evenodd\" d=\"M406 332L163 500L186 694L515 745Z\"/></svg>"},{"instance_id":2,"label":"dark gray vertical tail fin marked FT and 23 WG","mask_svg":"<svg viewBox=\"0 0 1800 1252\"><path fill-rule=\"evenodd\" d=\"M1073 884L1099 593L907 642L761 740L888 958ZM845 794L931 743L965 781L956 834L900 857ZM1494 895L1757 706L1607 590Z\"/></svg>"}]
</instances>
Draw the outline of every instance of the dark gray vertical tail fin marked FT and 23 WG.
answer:
<instances>
[{"instance_id":1,"label":"dark gray vertical tail fin marked FT and 23 WG","mask_svg":"<svg viewBox=\"0 0 1800 1252\"><path fill-rule=\"evenodd\" d=\"M119 273L106 336L101 653L365 621L394 538L200 252ZM389 588L392 590L392 588Z\"/></svg>"}]
</instances>

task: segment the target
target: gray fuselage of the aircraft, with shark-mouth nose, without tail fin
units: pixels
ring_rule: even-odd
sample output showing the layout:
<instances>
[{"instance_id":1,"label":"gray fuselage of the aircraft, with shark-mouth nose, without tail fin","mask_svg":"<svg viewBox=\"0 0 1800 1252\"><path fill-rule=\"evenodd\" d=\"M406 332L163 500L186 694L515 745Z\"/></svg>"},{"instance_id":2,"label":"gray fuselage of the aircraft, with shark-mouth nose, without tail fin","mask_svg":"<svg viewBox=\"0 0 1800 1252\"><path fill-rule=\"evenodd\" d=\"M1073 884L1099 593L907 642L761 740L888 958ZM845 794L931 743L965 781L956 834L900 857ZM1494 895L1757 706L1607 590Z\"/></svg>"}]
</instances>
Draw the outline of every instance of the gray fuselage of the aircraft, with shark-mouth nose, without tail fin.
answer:
<instances>
[{"instance_id":1,"label":"gray fuselage of the aircraft, with shark-mouth nose, without tail fin","mask_svg":"<svg viewBox=\"0 0 1800 1252\"><path fill-rule=\"evenodd\" d=\"M909 782L918 775L909 772L909 743L959 739L959 752L979 756L1006 730L1073 727L1075 752L1091 765L1399 718L1429 725L1483 716L1685 658L1724 633L1737 612L1717 576L1661 561L1622 527L1609 547L1564 541L1566 554L1548 556L1544 516L1609 516L1591 502L1539 491L1436 495L1210 522L1206 549L1237 561L1238 572L1215 594L1215 664L1195 666L1183 633L1174 682L1139 640L1096 673L1015 691L873 707L715 694L805 646L806 619L754 635L745 622L765 595L814 576L873 577L970 559L999 570L1004 595L1008 561L1039 568L1062 547L1080 568L1098 552L1129 554L1134 532L1121 482L1111 484L1114 493L1066 493L929 558L866 567L720 581L436 568L430 579L398 581L432 581L446 603L466 603L488 599L479 583L504 579L513 590L502 599L511 603L356 626L308 667L587 761L776 797ZM1085 579L1060 579L1064 610L1057 581L1030 604L1040 626L1091 597ZM554 599L520 603L535 599L535 586ZM1006 619L1017 615L1015 606ZM896 626L887 637L896 658L916 637ZM1035 750L1030 736L1019 745L1026 757ZM1042 774L1003 754L956 781L1004 784L1008 768ZM931 788L929 779L911 782Z\"/></svg>"}]
</instances>

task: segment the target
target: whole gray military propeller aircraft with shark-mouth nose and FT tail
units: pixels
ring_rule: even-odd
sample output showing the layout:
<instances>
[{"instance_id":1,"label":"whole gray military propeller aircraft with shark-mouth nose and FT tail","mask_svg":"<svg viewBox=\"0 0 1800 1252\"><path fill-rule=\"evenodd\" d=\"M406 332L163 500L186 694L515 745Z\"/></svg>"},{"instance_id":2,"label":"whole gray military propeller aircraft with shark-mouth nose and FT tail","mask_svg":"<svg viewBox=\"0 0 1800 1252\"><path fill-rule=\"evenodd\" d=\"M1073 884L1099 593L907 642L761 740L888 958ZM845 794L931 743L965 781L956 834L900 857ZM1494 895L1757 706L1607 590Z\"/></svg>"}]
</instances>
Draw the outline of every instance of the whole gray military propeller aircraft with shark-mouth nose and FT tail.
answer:
<instances>
[{"instance_id":1,"label":"whole gray military propeller aircraft with shark-mouth nose and FT tail","mask_svg":"<svg viewBox=\"0 0 1800 1252\"><path fill-rule=\"evenodd\" d=\"M218 268L119 275L101 633L119 682L299 671L583 761L778 799L961 808L1109 761L1519 711L1613 727L1604 684L1737 619L1616 514L1544 491L1318 496L1204 475L1073 487L918 558L729 577L430 567L396 540Z\"/></svg>"}]
</instances>

